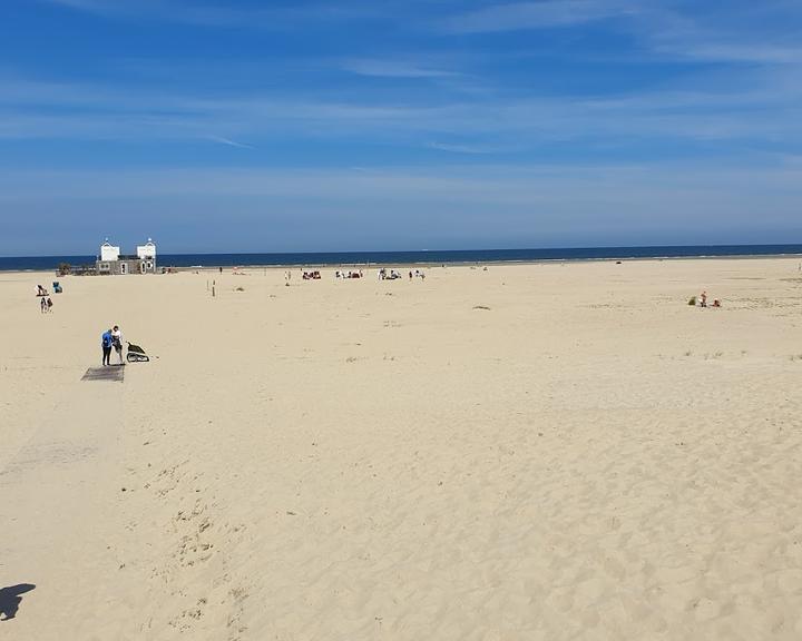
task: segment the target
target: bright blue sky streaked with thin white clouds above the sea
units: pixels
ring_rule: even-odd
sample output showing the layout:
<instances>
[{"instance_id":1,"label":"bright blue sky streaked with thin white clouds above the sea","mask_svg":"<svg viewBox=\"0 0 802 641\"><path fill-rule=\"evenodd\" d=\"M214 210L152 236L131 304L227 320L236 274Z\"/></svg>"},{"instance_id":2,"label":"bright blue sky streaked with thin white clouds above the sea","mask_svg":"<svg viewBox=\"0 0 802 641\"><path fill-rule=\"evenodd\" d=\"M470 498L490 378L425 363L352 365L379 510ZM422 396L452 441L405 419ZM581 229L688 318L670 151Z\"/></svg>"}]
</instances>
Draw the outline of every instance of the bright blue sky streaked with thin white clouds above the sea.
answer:
<instances>
[{"instance_id":1,"label":"bright blue sky streaked with thin white clouds above the sea","mask_svg":"<svg viewBox=\"0 0 802 641\"><path fill-rule=\"evenodd\" d=\"M0 255L802 243L799 0L2 0Z\"/></svg>"}]
</instances>

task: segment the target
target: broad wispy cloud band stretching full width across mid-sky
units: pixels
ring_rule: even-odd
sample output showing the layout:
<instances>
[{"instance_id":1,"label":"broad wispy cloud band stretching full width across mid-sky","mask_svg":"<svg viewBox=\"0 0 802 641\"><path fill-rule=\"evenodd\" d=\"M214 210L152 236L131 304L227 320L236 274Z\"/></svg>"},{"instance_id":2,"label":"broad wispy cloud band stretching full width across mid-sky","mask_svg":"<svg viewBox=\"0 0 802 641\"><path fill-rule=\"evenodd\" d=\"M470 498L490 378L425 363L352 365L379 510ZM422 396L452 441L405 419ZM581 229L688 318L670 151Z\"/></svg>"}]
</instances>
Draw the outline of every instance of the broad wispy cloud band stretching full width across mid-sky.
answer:
<instances>
[{"instance_id":1,"label":"broad wispy cloud band stretching full width across mid-sky","mask_svg":"<svg viewBox=\"0 0 802 641\"><path fill-rule=\"evenodd\" d=\"M404 148L440 145L442 150L466 154L594 139L792 142L802 141L801 91L796 87L779 77L772 85L750 91L697 88L594 98L382 103L368 101L363 93L341 101L263 95L204 98L87 85L7 82L7 90L0 93L0 138L198 139L229 146L243 146L238 140L245 138L250 146L291 136L390 142Z\"/></svg>"}]
</instances>

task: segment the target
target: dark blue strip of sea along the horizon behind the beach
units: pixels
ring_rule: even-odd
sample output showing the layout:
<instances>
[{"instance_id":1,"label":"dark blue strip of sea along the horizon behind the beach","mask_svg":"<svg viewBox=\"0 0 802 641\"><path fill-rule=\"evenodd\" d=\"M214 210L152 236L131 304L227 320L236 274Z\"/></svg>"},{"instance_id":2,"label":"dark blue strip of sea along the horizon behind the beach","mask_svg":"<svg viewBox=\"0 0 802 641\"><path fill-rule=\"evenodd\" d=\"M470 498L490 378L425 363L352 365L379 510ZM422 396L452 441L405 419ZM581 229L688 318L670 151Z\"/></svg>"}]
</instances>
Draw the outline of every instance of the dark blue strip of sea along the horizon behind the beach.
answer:
<instances>
[{"instance_id":1,"label":"dark blue strip of sea along the horizon behind the beach","mask_svg":"<svg viewBox=\"0 0 802 641\"><path fill-rule=\"evenodd\" d=\"M693 245L665 247L570 247L549 249L454 249L426 252L333 252L297 254L159 254L159 267L368 266L549 260L626 260L716 258L725 256L802 256L802 245ZM94 266L95 256L0 257L0 272L55 270L59 264Z\"/></svg>"}]
</instances>

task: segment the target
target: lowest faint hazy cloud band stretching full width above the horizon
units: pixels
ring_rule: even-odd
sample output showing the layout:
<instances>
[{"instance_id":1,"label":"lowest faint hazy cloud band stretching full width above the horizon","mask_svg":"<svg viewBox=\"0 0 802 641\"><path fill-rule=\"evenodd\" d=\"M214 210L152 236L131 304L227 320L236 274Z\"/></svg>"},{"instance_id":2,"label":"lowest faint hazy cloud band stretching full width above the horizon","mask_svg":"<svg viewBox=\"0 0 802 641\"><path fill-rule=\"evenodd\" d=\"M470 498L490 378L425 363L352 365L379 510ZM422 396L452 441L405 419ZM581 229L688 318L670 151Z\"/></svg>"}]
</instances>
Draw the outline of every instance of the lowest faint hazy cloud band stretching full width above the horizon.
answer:
<instances>
[{"instance_id":1,"label":"lowest faint hazy cloud band stretching full width above the horizon","mask_svg":"<svg viewBox=\"0 0 802 641\"><path fill-rule=\"evenodd\" d=\"M752 179L750 179L752 176ZM733 183L733 180L736 183ZM42 180L53 189L42 193ZM802 195L802 167L776 162L755 166L731 161L639 162L637 165L479 165L427 168L371 167L354 169L208 169L6 171L0 175L0 199L107 198L116 195L251 195L327 198L459 199L492 203L559 203L581 185L571 200L625 200L667 193L682 186L695 194L760 187L792 187ZM749 189L745 187L749 186Z\"/></svg>"}]
</instances>

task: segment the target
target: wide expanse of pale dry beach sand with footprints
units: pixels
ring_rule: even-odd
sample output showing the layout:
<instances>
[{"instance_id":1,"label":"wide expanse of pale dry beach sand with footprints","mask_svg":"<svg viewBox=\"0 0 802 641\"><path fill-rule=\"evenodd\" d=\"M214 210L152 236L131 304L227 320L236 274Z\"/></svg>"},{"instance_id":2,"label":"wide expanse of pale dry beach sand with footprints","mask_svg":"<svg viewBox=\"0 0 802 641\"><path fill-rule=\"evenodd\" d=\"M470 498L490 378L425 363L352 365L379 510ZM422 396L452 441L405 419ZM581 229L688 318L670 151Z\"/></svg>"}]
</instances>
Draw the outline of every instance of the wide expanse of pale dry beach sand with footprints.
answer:
<instances>
[{"instance_id":1,"label":"wide expanse of pale dry beach sand with footprints","mask_svg":"<svg viewBox=\"0 0 802 641\"><path fill-rule=\"evenodd\" d=\"M0 274L0 639L800 639L798 265Z\"/></svg>"}]
</instances>

